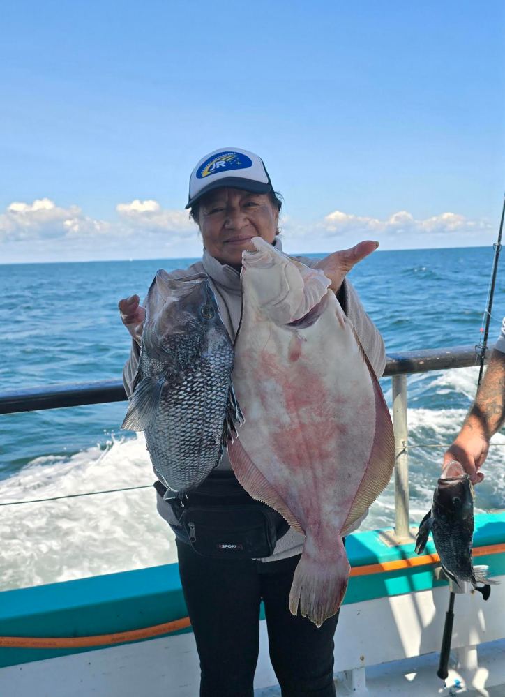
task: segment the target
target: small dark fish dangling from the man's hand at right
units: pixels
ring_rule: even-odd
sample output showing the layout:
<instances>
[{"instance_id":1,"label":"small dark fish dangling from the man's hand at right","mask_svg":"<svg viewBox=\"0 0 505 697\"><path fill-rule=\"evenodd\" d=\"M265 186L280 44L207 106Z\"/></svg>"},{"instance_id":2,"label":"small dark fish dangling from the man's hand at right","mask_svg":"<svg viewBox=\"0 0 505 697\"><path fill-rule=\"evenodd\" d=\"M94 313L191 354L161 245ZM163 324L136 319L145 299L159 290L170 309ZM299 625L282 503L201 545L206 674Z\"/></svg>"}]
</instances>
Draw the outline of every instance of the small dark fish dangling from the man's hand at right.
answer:
<instances>
[{"instance_id":1,"label":"small dark fish dangling from the man's hand at right","mask_svg":"<svg viewBox=\"0 0 505 697\"><path fill-rule=\"evenodd\" d=\"M433 494L431 511L421 520L417 554L423 553L430 530L446 576L460 587L462 581L471 583L488 597L488 584L492 582L472 564L474 488L462 465L455 460L444 467ZM477 583L483 583L485 588L478 588Z\"/></svg>"}]
</instances>

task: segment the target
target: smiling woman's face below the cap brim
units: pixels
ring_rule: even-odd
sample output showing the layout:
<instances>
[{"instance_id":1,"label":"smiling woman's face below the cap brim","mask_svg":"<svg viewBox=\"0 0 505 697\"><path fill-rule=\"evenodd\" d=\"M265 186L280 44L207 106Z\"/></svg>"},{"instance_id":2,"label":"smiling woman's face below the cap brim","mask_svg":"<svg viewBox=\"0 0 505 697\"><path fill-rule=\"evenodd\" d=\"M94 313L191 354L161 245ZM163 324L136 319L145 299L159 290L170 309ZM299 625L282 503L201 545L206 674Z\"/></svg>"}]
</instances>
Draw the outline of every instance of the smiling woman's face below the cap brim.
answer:
<instances>
[{"instance_id":1,"label":"smiling woman's face below the cap brim","mask_svg":"<svg viewBox=\"0 0 505 697\"><path fill-rule=\"evenodd\" d=\"M204 197L198 225L207 252L221 264L240 268L243 250L254 250L252 237L273 242L278 218L268 194L220 188Z\"/></svg>"}]
</instances>

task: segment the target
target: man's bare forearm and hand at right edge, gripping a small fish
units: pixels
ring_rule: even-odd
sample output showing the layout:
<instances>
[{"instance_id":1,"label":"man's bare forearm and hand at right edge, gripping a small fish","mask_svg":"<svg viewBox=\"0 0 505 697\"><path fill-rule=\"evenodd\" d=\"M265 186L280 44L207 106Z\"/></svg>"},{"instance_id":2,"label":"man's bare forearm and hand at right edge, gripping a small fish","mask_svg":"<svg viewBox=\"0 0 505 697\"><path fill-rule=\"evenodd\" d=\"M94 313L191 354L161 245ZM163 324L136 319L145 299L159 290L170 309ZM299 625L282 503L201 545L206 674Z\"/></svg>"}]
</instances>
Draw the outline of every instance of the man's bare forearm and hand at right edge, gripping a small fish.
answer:
<instances>
[{"instance_id":1,"label":"man's bare forearm and hand at right edge, gripping a small fish","mask_svg":"<svg viewBox=\"0 0 505 697\"><path fill-rule=\"evenodd\" d=\"M473 484L484 479L479 467L488 456L489 442L505 420L505 353L492 352L484 379L460 433L444 455L444 464L458 460Z\"/></svg>"}]
</instances>

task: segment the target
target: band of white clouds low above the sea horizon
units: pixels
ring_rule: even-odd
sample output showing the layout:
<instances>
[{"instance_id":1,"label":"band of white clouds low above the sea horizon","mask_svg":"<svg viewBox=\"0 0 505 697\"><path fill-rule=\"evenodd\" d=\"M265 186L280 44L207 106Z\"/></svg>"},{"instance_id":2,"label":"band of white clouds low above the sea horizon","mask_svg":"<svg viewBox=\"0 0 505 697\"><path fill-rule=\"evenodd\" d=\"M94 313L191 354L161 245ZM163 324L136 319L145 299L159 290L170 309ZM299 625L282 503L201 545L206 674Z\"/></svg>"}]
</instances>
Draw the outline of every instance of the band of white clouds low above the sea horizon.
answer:
<instances>
[{"instance_id":1,"label":"band of white clouds low above the sea horizon","mask_svg":"<svg viewBox=\"0 0 505 697\"><path fill-rule=\"evenodd\" d=\"M309 224L282 216L280 228L288 253L330 252L367 238L382 249L465 246L489 243L495 233L484 219L441 213L418 220L408 211L384 219L333 211ZM112 220L49 198L15 201L0 213L0 262L198 257L201 250L188 213L152 199L117 204Z\"/></svg>"}]
</instances>

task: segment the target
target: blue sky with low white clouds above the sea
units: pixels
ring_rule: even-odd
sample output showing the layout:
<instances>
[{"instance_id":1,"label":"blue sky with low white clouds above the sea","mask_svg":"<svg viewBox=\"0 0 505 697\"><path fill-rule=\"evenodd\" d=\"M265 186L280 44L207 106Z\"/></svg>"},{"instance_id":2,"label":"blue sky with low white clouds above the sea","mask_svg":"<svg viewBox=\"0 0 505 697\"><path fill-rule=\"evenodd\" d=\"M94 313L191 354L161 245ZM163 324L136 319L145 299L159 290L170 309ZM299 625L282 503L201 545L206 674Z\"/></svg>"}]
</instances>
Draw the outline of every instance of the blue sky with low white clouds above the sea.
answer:
<instances>
[{"instance_id":1,"label":"blue sky with low white clouds above the sea","mask_svg":"<svg viewBox=\"0 0 505 697\"><path fill-rule=\"evenodd\" d=\"M292 252L496 237L505 3L7 0L0 262L199 255L188 177L264 158Z\"/></svg>"}]
</instances>

